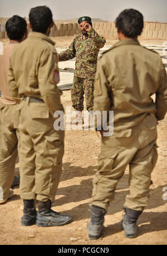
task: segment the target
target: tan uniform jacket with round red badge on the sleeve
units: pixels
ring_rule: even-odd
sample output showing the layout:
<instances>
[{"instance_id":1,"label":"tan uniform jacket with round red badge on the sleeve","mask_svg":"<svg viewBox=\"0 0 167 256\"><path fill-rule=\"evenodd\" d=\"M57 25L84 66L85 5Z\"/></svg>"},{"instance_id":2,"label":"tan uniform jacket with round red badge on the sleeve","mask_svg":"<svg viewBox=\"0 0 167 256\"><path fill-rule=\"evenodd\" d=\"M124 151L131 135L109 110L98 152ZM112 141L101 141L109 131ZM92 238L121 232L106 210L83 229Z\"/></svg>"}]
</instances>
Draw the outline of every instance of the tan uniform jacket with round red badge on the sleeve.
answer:
<instances>
[{"instance_id":1,"label":"tan uniform jacket with round red badge on the sleeve","mask_svg":"<svg viewBox=\"0 0 167 256\"><path fill-rule=\"evenodd\" d=\"M41 98L50 112L63 110L55 42L50 37L31 32L12 52L9 65L9 91L18 103L22 96Z\"/></svg>"}]
</instances>

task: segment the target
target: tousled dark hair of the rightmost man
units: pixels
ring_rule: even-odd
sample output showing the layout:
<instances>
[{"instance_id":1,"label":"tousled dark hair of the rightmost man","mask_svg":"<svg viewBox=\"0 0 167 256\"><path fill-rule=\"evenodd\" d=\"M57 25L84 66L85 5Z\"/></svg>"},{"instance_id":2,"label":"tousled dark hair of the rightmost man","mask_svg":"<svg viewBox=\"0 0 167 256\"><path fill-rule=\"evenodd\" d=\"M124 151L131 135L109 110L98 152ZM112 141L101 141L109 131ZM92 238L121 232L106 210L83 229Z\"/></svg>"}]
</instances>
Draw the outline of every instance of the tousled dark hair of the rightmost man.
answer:
<instances>
[{"instance_id":1,"label":"tousled dark hair of the rightmost man","mask_svg":"<svg viewBox=\"0 0 167 256\"><path fill-rule=\"evenodd\" d=\"M134 9L126 9L116 18L115 26L127 37L141 35L144 26L143 15Z\"/></svg>"}]
</instances>

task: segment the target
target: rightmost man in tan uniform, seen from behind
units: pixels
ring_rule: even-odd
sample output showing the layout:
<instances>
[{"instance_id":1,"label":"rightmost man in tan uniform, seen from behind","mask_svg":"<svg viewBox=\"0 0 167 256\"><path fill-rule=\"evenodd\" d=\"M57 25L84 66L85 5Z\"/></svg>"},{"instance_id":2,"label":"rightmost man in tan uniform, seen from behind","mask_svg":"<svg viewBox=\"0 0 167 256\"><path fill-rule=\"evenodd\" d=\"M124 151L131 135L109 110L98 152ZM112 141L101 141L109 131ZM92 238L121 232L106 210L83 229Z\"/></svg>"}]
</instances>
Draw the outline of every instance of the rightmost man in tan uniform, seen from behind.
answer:
<instances>
[{"instance_id":1,"label":"rightmost man in tan uniform, seen from behind","mask_svg":"<svg viewBox=\"0 0 167 256\"><path fill-rule=\"evenodd\" d=\"M89 206L90 239L101 236L104 215L128 164L130 192L122 228L127 238L135 238L136 221L148 205L151 172L158 156L156 125L167 110L167 76L161 58L137 41L143 15L124 10L116 18L116 27L120 41L101 57L95 75L94 111L114 111L114 134L107 137L101 130L101 153Z\"/></svg>"}]
</instances>

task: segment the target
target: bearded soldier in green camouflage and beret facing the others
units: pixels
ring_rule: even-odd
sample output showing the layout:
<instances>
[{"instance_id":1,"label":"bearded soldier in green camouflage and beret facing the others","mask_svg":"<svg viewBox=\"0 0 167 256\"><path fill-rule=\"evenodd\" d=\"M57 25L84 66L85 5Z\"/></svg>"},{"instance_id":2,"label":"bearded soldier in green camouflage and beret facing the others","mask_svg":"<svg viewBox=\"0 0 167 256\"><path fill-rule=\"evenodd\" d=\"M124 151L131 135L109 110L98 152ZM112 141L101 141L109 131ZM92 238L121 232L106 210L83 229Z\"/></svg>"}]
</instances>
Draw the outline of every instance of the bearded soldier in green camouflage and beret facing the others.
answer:
<instances>
[{"instance_id":1,"label":"bearded soldier in green camouflage and beret facing the others","mask_svg":"<svg viewBox=\"0 0 167 256\"><path fill-rule=\"evenodd\" d=\"M105 45L105 38L97 34L92 27L90 17L78 18L82 34L78 35L70 47L58 55L59 61L76 57L75 72L71 90L72 106L76 110L76 124L82 121L84 110L84 94L86 108L92 111L94 105L94 75L97 66L97 56L100 48Z\"/></svg>"}]
</instances>

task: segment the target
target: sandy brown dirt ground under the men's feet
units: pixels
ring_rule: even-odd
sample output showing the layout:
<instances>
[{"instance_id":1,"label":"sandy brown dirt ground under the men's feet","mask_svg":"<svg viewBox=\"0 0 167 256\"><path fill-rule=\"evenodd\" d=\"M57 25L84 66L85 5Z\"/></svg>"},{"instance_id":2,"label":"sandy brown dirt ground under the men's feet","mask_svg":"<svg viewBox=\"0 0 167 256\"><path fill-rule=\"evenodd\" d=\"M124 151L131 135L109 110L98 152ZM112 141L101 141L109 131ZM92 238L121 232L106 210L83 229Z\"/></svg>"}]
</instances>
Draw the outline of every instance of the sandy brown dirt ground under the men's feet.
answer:
<instances>
[{"instance_id":1,"label":"sandy brown dirt ground under the men's feet","mask_svg":"<svg viewBox=\"0 0 167 256\"><path fill-rule=\"evenodd\" d=\"M69 41L57 46L68 46ZM157 42L154 41L155 44ZM110 42L111 44L111 42ZM160 44L160 42L159 42ZM71 106L71 90L63 91L62 103ZM63 172L52 209L62 214L70 214L73 221L61 227L22 226L23 212L20 208L19 187L13 188L14 196L0 206L0 244L1 245L166 245L167 244L167 115L158 125L159 158L152 173L148 207L137 221L137 238L125 238L121 229L123 205L129 193L126 168L105 215L105 229L102 238L89 240L87 223L88 205L92 192L92 178L97 169L100 153L100 137L95 131L66 131ZM19 163L16 164L19 174Z\"/></svg>"}]
</instances>

